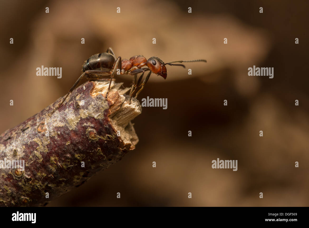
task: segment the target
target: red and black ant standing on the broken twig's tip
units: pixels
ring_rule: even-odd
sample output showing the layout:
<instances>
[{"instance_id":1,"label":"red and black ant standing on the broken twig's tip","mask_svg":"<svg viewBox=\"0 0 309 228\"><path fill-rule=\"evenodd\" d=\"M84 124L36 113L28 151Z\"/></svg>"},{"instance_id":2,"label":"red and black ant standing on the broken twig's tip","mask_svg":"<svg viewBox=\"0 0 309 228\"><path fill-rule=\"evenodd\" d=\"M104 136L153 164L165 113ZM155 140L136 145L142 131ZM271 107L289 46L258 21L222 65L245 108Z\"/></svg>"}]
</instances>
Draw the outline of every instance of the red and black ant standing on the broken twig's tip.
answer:
<instances>
[{"instance_id":1,"label":"red and black ant standing on the broken twig's tip","mask_svg":"<svg viewBox=\"0 0 309 228\"><path fill-rule=\"evenodd\" d=\"M135 55L135 56L132 56L130 59L123 59L121 61L121 57L116 58L112 48L108 48L105 53L95 54L84 62L83 69L82 69L83 74L77 79L77 81L74 83L74 85L69 90L68 94L62 100L62 102L58 105L58 107L55 108L53 112L51 112L49 115L53 114L58 108L60 108L60 106L66 100L68 95L74 90L74 88L77 86L77 84L80 82L80 80L82 80L84 76L86 76L87 78L98 78L100 76L111 76L111 80L109 82L108 90L105 96L105 99L107 99L107 95L108 95L108 92L110 90L111 83L112 83L112 78L114 77L116 71L118 71L117 74L134 75L133 85L130 91L129 104L131 104L131 99L133 95L135 95L135 98L136 98L137 95L143 90L151 73L160 75L164 79L166 79L167 70L166 70L165 65L183 66L185 68L183 64L173 64L173 63L175 62L201 62L201 61L207 62L204 59L197 59L197 60L189 60L189 61L180 60L180 61L164 63L158 57L153 56L147 60L142 55ZM147 67L142 68L143 66L147 66ZM140 85L145 71L150 71L150 72L147 74L145 80ZM139 73L142 73L142 74L136 81L137 74ZM138 90L139 87L140 89Z\"/></svg>"}]
</instances>

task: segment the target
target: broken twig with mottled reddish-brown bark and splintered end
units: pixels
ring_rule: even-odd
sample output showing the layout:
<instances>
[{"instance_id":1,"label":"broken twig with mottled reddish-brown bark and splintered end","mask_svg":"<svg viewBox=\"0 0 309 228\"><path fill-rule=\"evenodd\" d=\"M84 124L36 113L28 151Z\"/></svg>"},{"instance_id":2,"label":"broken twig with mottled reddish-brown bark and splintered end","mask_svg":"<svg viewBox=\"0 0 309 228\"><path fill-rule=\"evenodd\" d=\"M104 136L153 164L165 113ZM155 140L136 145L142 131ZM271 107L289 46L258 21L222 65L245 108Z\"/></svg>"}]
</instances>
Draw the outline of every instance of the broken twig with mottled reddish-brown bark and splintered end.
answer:
<instances>
[{"instance_id":1,"label":"broken twig with mottled reddish-brown bark and splintered end","mask_svg":"<svg viewBox=\"0 0 309 228\"><path fill-rule=\"evenodd\" d=\"M136 100L129 105L129 89L120 87L112 83L105 100L107 81L86 82L51 116L62 98L2 133L0 160L24 160L25 167L0 168L0 205L45 205L133 150L130 120L142 109Z\"/></svg>"}]
</instances>

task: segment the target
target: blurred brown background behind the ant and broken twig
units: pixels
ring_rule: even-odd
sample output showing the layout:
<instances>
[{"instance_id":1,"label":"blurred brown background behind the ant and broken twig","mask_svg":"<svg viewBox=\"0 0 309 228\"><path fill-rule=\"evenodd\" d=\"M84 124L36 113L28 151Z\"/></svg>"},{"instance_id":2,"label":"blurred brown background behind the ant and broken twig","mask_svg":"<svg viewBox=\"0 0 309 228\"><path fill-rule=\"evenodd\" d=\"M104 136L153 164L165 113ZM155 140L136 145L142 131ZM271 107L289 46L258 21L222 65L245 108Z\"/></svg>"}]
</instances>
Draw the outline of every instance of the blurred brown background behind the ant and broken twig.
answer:
<instances>
[{"instance_id":1,"label":"blurred brown background behind the ant and broken twig","mask_svg":"<svg viewBox=\"0 0 309 228\"><path fill-rule=\"evenodd\" d=\"M108 47L207 59L167 66L166 80L152 74L139 100L168 106L133 120L136 149L48 206L308 206L307 1L2 1L0 11L1 132L65 95L83 61ZM41 65L62 67L62 78L36 76ZM274 67L274 78L248 76L253 65ZM217 158L238 160L238 171L212 169Z\"/></svg>"}]
</instances>

